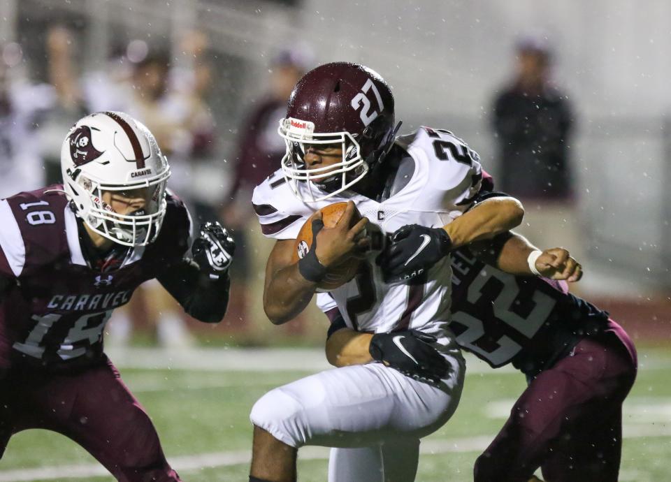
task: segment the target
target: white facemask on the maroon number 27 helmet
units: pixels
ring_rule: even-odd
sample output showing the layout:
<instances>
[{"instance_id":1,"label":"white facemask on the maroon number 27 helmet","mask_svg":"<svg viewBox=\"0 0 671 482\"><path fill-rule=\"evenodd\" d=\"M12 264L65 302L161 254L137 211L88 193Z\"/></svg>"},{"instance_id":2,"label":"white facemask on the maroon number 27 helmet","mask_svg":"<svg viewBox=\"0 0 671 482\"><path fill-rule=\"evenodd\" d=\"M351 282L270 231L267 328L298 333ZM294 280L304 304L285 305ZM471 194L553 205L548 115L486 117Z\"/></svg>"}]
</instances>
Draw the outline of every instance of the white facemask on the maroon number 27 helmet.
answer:
<instances>
[{"instance_id":1,"label":"white facemask on the maroon number 27 helmet","mask_svg":"<svg viewBox=\"0 0 671 482\"><path fill-rule=\"evenodd\" d=\"M331 198L352 187L368 173L368 165L361 156L361 146L352 134L347 131L315 133L314 130L315 124L312 122L291 117L281 119L277 129L287 145L282 157L284 179L294 195L305 203ZM340 145L341 161L329 166L308 168L304 160L305 152L314 145ZM299 182L303 182L303 189Z\"/></svg>"}]
</instances>

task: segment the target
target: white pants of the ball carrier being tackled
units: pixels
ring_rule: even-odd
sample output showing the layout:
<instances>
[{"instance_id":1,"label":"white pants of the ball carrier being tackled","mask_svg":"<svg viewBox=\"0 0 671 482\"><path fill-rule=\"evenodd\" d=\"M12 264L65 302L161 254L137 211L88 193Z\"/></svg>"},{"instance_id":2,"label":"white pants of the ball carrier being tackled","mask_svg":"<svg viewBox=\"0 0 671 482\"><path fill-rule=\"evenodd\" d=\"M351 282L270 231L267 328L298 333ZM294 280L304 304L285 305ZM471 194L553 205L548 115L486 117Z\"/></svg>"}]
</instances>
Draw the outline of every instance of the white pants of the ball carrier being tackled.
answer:
<instances>
[{"instance_id":1,"label":"white pants of the ball carrier being tackled","mask_svg":"<svg viewBox=\"0 0 671 482\"><path fill-rule=\"evenodd\" d=\"M447 422L461 397L466 370L461 352L444 354L452 370L438 387L382 363L335 368L270 390L254 404L250 419L292 447L366 448L335 451L329 481L412 481L419 439ZM406 475L381 479L393 458L397 465L403 462ZM360 475L349 475L354 470Z\"/></svg>"}]
</instances>

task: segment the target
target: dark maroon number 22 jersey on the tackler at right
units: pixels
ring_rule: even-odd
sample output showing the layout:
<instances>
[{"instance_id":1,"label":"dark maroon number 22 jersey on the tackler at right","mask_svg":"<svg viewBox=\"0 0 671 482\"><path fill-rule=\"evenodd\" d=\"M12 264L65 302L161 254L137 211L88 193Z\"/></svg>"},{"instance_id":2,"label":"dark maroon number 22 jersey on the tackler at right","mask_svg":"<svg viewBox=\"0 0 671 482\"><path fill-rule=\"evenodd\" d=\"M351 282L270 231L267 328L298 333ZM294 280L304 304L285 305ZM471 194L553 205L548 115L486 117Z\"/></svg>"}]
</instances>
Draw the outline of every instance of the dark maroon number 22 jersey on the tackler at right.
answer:
<instances>
[{"instance_id":1,"label":"dark maroon number 22 jersey on the tackler at right","mask_svg":"<svg viewBox=\"0 0 671 482\"><path fill-rule=\"evenodd\" d=\"M568 292L566 282L515 276L452 254L452 323L459 345L492 367L535 374L605 328L607 313Z\"/></svg>"}]
</instances>

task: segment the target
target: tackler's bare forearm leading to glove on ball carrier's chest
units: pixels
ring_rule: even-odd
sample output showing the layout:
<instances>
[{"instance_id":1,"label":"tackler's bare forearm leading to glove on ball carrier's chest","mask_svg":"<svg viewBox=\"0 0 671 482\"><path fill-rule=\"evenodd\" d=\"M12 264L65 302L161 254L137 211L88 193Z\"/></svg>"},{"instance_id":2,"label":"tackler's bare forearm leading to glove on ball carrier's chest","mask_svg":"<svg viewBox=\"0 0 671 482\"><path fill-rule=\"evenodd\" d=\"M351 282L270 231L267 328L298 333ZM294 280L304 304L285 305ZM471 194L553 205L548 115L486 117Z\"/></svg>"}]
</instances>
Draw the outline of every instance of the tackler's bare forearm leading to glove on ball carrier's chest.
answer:
<instances>
[{"instance_id":1,"label":"tackler's bare forearm leading to glove on ball carrier's chest","mask_svg":"<svg viewBox=\"0 0 671 482\"><path fill-rule=\"evenodd\" d=\"M491 239L519 226L524 208L519 200L510 197L490 198L462 214L444 227L458 248L474 241Z\"/></svg>"}]
</instances>

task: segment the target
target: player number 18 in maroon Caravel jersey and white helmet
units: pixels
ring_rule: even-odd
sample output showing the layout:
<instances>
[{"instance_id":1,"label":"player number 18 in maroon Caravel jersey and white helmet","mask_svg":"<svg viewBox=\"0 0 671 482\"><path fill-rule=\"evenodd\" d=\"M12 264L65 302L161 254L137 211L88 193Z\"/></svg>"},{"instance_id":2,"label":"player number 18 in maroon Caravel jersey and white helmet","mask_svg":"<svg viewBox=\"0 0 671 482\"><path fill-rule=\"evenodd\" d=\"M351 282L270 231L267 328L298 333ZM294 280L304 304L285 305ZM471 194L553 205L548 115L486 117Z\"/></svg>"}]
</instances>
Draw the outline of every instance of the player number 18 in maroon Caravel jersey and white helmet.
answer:
<instances>
[{"instance_id":1,"label":"player number 18 in maroon Caravel jersey and white helmet","mask_svg":"<svg viewBox=\"0 0 671 482\"><path fill-rule=\"evenodd\" d=\"M165 156L125 114L80 119L61 163L62 185L0 200L0 453L16 432L44 428L120 481L179 481L103 352L103 328L153 278L194 318L220 321L233 241L208 223L191 244Z\"/></svg>"}]
</instances>

